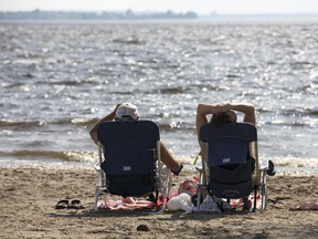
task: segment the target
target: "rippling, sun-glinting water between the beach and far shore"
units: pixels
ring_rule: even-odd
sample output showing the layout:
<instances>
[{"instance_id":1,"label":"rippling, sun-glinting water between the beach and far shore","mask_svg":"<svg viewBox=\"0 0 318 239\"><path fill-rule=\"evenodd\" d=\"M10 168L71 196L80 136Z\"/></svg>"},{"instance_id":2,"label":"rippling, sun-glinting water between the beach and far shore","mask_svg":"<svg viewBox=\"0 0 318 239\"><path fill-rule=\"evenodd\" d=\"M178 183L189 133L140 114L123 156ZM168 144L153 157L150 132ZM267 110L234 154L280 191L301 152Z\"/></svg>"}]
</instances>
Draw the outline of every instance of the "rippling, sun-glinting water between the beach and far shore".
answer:
<instances>
[{"instance_id":1,"label":"rippling, sun-glinting water between the beach and far shore","mask_svg":"<svg viewBox=\"0 0 318 239\"><path fill-rule=\"evenodd\" d=\"M0 165L91 167L88 136L139 106L183 162L198 103L248 102L259 156L318 173L318 19L0 23Z\"/></svg>"}]
</instances>

